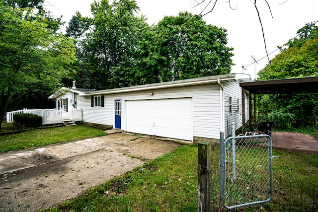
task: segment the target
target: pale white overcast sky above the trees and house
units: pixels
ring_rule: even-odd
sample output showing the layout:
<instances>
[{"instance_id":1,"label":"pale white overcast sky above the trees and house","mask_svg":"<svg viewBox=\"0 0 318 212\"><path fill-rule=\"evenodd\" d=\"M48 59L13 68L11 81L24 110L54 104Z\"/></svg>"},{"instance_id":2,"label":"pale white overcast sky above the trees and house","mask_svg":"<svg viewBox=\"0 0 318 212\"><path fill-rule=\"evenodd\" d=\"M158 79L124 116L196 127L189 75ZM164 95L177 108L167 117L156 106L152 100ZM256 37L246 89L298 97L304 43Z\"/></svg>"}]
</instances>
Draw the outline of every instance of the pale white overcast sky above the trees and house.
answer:
<instances>
[{"instance_id":1,"label":"pale white overcast sky above the trees and house","mask_svg":"<svg viewBox=\"0 0 318 212\"><path fill-rule=\"evenodd\" d=\"M76 11L83 16L91 16L92 2L93 0L45 0L44 5L54 16L62 15L62 20L66 21L67 25ZM180 11L200 14L206 5L202 3L193 7L195 0L136 0L136 2L141 9L138 15L145 15L150 25L157 24L164 16L176 16ZM256 6L271 60L279 53L278 46L283 46L289 39L294 38L297 30L306 23L318 20L318 0L267 0L267 2L270 9L265 0L257 0ZM207 7L211 8L212 4ZM207 24L227 29L227 46L234 48L232 60L235 65L232 67L232 73L243 72L254 78L257 72L268 64L254 0L231 0L231 7L228 0L218 0L214 10L204 15L203 19Z\"/></svg>"}]
</instances>

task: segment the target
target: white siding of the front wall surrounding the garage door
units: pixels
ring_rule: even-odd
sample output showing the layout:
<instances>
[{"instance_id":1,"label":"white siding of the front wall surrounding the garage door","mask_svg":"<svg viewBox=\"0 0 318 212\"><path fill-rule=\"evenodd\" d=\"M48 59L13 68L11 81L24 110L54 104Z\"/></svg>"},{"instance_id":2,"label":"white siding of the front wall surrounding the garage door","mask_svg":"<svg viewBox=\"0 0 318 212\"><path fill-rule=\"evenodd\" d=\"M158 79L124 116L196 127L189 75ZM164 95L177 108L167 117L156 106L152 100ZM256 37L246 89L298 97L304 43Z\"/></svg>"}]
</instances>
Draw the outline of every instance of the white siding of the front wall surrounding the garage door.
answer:
<instances>
[{"instance_id":1,"label":"white siding of the front wall surrounding the garage door","mask_svg":"<svg viewBox=\"0 0 318 212\"><path fill-rule=\"evenodd\" d=\"M149 93L153 95L149 95ZM193 98L193 136L218 139L220 137L220 87L218 84L197 85L148 91L105 95L105 107L91 107L90 96L78 97L83 109L83 122L115 126L114 100L122 100L121 125L126 131L126 101L169 98Z\"/></svg>"}]
</instances>

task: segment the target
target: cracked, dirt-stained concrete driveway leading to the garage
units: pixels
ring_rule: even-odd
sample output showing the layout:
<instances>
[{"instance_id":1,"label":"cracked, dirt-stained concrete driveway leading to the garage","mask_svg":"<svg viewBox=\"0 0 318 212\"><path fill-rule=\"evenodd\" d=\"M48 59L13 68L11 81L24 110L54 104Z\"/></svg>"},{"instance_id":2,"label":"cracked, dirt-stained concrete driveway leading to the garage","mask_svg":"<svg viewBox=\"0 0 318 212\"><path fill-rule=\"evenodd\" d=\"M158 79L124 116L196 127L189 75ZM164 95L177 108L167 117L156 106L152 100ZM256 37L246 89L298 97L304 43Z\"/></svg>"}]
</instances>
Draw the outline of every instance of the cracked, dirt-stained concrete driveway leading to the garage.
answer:
<instances>
[{"instance_id":1,"label":"cracked, dirt-stained concrete driveway leading to the garage","mask_svg":"<svg viewBox=\"0 0 318 212\"><path fill-rule=\"evenodd\" d=\"M0 211L39 211L180 146L116 133L0 154Z\"/></svg>"}]
</instances>

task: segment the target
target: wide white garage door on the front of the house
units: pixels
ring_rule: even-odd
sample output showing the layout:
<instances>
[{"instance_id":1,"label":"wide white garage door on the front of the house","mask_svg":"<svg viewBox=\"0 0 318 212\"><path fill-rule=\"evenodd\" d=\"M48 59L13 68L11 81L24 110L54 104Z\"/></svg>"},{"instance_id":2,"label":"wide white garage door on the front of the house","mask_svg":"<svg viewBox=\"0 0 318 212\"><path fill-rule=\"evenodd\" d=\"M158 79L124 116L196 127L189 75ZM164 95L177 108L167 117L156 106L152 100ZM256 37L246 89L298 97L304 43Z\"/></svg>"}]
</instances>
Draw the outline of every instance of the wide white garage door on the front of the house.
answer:
<instances>
[{"instance_id":1,"label":"wide white garage door on the front of the house","mask_svg":"<svg viewBox=\"0 0 318 212\"><path fill-rule=\"evenodd\" d=\"M126 101L126 130L193 141L192 98Z\"/></svg>"}]
</instances>

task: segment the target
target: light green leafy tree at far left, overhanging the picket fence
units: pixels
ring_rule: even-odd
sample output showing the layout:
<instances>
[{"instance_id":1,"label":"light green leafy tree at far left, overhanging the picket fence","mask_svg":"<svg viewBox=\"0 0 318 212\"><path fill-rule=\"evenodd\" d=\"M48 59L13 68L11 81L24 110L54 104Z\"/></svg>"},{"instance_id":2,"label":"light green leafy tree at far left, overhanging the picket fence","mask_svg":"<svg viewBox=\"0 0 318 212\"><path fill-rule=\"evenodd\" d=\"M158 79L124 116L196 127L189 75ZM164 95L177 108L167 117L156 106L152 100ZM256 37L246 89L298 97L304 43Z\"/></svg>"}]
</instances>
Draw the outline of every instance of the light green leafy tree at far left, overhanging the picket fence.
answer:
<instances>
[{"instance_id":1,"label":"light green leafy tree at far left, overhanging the picket fence","mask_svg":"<svg viewBox=\"0 0 318 212\"><path fill-rule=\"evenodd\" d=\"M32 8L0 0L0 117L36 84L51 91L76 60L72 40L55 32L59 23ZM58 21L59 22L59 21Z\"/></svg>"}]
</instances>

